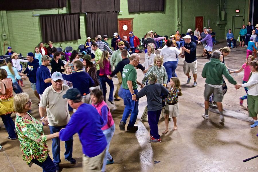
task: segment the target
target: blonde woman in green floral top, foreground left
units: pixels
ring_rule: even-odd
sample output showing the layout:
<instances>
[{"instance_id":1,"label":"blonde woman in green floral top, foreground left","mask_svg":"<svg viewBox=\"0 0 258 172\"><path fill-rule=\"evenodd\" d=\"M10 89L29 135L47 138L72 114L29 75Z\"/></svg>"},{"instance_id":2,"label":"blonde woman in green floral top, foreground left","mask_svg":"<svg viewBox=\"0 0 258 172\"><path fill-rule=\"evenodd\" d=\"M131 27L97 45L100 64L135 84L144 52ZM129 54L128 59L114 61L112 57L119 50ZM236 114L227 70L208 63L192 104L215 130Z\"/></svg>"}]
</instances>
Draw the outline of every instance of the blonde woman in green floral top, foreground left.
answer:
<instances>
[{"instance_id":1,"label":"blonde woman in green floral top, foreground left","mask_svg":"<svg viewBox=\"0 0 258 172\"><path fill-rule=\"evenodd\" d=\"M49 157L47 140L59 136L59 132L44 135L43 125L32 117L28 111L31 110L31 101L27 93L20 93L14 97L14 110L17 112L15 128L21 144L21 154L27 165L35 163L44 171L56 171L56 167Z\"/></svg>"}]
</instances>

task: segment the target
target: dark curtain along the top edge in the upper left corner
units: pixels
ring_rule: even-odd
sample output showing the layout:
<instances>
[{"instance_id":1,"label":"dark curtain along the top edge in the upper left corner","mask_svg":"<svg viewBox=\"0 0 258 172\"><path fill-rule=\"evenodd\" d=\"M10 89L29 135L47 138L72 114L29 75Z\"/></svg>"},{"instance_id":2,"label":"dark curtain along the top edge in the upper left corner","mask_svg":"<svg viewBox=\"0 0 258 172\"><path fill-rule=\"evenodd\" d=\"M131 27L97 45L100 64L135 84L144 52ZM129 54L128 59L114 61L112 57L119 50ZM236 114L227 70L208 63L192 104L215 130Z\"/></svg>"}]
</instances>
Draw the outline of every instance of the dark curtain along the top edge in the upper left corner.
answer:
<instances>
[{"instance_id":1,"label":"dark curtain along the top edge in the upper left corner","mask_svg":"<svg viewBox=\"0 0 258 172\"><path fill-rule=\"evenodd\" d=\"M50 9L66 7L67 0L1 0L0 10Z\"/></svg>"}]
</instances>

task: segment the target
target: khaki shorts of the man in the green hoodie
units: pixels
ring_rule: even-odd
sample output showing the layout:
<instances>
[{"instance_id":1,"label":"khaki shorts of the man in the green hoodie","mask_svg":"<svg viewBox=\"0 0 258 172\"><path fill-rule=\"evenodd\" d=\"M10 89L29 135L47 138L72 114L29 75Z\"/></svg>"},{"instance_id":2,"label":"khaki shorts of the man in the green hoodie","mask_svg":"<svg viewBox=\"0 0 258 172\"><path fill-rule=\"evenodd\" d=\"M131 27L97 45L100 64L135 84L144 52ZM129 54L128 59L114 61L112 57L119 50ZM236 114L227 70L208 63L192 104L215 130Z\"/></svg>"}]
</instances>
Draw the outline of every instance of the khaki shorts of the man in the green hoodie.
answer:
<instances>
[{"instance_id":1,"label":"khaki shorts of the man in the green hoodie","mask_svg":"<svg viewBox=\"0 0 258 172\"><path fill-rule=\"evenodd\" d=\"M208 84L205 84L204 98L205 98L206 101L209 100L210 95L212 93L213 93L213 101L222 102L222 99L223 99L222 87L214 88L214 87L211 87Z\"/></svg>"}]
</instances>

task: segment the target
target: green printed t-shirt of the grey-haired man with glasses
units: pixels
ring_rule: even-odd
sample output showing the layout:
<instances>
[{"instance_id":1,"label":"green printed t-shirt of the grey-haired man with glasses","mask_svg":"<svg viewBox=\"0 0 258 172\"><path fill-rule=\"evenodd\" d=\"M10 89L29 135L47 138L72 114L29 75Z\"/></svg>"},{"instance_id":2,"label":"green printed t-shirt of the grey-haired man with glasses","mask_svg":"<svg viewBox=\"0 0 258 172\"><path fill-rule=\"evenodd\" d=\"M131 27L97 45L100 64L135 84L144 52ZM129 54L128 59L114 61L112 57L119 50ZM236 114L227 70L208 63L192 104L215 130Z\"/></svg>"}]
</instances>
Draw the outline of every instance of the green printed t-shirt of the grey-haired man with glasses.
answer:
<instances>
[{"instance_id":1,"label":"green printed t-shirt of the grey-haired man with glasses","mask_svg":"<svg viewBox=\"0 0 258 172\"><path fill-rule=\"evenodd\" d=\"M129 89L127 85L127 81L132 81L133 89L137 89L138 85L136 82L137 72L132 64L126 64L122 73L122 87L124 89Z\"/></svg>"}]
</instances>

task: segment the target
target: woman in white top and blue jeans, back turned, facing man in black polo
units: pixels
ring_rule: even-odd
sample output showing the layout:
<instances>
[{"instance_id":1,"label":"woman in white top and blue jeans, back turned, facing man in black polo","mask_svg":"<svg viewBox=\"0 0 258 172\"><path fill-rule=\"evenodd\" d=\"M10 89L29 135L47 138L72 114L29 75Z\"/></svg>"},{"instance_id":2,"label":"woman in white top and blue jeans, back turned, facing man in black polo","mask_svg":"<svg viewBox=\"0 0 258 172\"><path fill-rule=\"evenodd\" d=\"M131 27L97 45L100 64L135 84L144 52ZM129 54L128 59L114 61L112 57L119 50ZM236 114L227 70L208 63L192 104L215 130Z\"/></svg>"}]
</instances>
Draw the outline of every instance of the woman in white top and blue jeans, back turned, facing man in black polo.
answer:
<instances>
[{"instance_id":1,"label":"woman in white top and blue jeans, back turned, facing man in black polo","mask_svg":"<svg viewBox=\"0 0 258 172\"><path fill-rule=\"evenodd\" d=\"M177 77L175 73L175 69L177 68L178 58L177 56L182 53L182 48L180 47L179 50L175 47L176 41L175 40L167 40L167 48L163 49L160 52L160 55L164 58L164 67L167 72L169 82L171 77Z\"/></svg>"}]
</instances>

